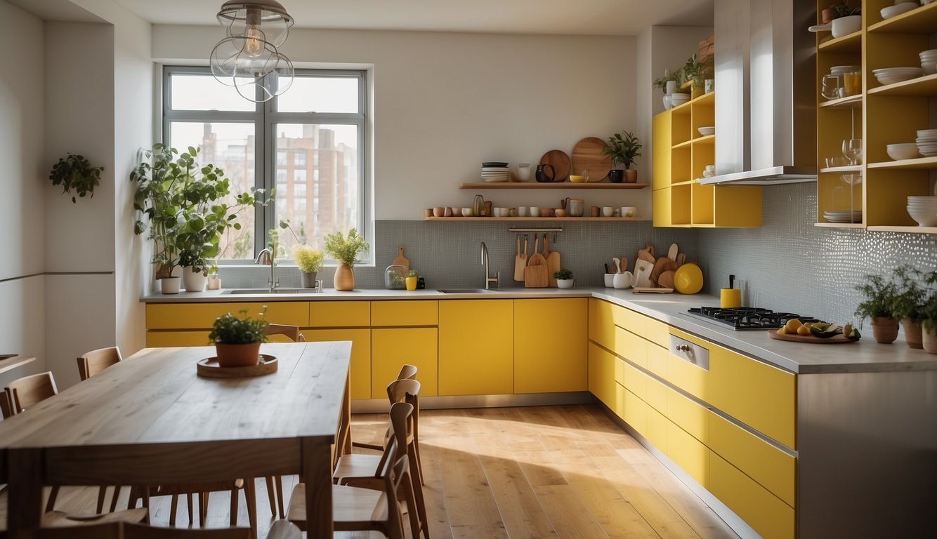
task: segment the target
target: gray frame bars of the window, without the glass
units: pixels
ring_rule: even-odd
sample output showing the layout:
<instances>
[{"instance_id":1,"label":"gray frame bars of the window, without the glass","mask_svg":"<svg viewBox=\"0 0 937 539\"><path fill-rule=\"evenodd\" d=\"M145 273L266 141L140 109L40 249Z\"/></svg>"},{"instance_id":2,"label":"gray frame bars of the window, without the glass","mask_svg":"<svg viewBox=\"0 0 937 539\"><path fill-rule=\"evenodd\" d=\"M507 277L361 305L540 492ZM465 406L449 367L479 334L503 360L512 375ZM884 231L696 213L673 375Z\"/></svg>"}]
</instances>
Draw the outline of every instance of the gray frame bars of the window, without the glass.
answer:
<instances>
[{"instance_id":1,"label":"gray frame bars of the window, without the glass","mask_svg":"<svg viewBox=\"0 0 937 539\"><path fill-rule=\"evenodd\" d=\"M199 75L213 78L211 69L205 66L162 66L162 135L168 144L171 141L171 124L174 122L202 123L237 123L254 124L254 186L266 189L269 193L276 185L276 124L340 124L355 125L358 128L358 233L373 245L374 216L371 213L372 175L368 168L368 79L364 69L296 69L296 78L346 78L358 81L358 112L280 112L276 110L277 98L257 103L253 111L237 110L192 110L171 109L173 75ZM218 82L220 85L221 83ZM233 90L232 90L233 91ZM289 92L290 90L287 90ZM260 94L260 89L258 89ZM292 157L287 152L287 159ZM314 165L317 166L317 165ZM310 182L306 178L306 185ZM268 207L256 207L254 218L254 255L258 255L267 244L267 231L277 225L275 204ZM373 249L367 253L363 265L373 265ZM252 262L246 259L219 260L218 264L244 264ZM328 265L335 265L335 260L327 259Z\"/></svg>"}]
</instances>

